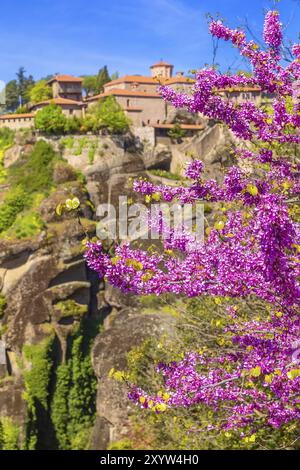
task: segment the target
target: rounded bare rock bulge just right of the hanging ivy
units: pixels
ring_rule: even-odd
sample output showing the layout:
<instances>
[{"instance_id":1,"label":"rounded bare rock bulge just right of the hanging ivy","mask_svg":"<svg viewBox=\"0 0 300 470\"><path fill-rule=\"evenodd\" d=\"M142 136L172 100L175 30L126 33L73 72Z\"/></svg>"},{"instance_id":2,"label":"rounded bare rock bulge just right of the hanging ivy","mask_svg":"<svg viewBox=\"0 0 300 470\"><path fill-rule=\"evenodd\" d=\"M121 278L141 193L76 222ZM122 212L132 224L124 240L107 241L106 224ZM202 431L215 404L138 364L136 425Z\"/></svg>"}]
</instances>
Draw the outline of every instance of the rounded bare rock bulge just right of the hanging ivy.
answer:
<instances>
[{"instance_id":1,"label":"rounded bare rock bulge just right of the hanging ivy","mask_svg":"<svg viewBox=\"0 0 300 470\"><path fill-rule=\"evenodd\" d=\"M130 428L133 405L128 401L124 384L109 378L109 371L125 369L127 353L146 338L174 334L174 323L174 318L166 314L143 315L137 309L127 308L116 314L111 326L96 338L92 361L98 394L92 449L106 449L110 442L124 438Z\"/></svg>"}]
</instances>

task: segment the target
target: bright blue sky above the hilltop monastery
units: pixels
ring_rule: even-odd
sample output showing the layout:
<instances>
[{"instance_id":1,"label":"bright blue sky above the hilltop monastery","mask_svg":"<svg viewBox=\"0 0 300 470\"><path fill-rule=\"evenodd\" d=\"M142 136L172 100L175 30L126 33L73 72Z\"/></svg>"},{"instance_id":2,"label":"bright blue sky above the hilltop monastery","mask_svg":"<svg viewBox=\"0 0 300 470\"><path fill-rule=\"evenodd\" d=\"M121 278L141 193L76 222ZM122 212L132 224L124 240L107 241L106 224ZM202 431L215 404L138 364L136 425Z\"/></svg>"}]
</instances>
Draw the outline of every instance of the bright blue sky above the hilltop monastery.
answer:
<instances>
[{"instance_id":1,"label":"bright blue sky above the hilltop monastery","mask_svg":"<svg viewBox=\"0 0 300 470\"><path fill-rule=\"evenodd\" d=\"M12 0L1 2L0 80L24 66L35 79L52 73L148 74L163 58L175 70L211 63L205 14L220 12L231 26L245 18L261 33L269 0ZM300 0L277 6L288 36L298 41ZM220 44L217 62L245 68L229 44Z\"/></svg>"}]
</instances>

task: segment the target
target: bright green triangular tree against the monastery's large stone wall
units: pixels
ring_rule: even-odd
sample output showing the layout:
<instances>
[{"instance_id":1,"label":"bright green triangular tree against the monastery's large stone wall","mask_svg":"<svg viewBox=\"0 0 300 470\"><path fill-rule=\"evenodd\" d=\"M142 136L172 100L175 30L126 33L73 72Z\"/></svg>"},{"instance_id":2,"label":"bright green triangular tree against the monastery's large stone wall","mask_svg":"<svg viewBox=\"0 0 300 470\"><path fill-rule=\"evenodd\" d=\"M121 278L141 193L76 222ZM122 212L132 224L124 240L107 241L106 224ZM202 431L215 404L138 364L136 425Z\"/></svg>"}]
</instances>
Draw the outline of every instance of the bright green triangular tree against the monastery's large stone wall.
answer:
<instances>
[{"instance_id":1,"label":"bright green triangular tree against the monastery's large stone wall","mask_svg":"<svg viewBox=\"0 0 300 470\"><path fill-rule=\"evenodd\" d=\"M114 96L108 96L92 106L83 124L86 130L107 129L111 133L123 133L129 129L130 120Z\"/></svg>"}]
</instances>

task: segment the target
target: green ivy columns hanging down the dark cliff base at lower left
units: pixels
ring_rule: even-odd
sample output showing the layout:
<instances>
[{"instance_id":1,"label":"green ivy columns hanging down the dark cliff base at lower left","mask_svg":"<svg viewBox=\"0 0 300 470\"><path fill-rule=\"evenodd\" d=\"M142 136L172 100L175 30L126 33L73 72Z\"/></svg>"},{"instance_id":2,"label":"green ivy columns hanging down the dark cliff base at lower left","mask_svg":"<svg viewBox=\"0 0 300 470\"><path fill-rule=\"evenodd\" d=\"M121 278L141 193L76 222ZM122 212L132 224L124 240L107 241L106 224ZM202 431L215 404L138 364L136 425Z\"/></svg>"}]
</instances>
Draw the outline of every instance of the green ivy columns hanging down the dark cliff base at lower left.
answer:
<instances>
[{"instance_id":1,"label":"green ivy columns hanging down the dark cliff base at lower left","mask_svg":"<svg viewBox=\"0 0 300 470\"><path fill-rule=\"evenodd\" d=\"M81 320L60 363L52 333L23 348L22 374L27 402L25 437L11 419L0 420L0 450L87 449L96 414L97 381L91 364L92 340L99 320Z\"/></svg>"}]
</instances>

